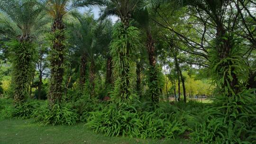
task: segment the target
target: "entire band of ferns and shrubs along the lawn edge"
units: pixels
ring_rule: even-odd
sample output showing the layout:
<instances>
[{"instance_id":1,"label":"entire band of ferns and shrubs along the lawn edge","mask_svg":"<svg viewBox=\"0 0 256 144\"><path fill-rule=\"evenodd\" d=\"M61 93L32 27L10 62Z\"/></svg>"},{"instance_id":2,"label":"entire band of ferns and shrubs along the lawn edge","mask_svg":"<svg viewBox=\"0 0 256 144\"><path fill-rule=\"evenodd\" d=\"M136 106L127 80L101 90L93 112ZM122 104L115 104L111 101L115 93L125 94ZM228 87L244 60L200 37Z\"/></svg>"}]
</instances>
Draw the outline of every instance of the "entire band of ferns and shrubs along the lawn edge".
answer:
<instances>
[{"instance_id":1,"label":"entire band of ferns and shrubs along the lawn edge","mask_svg":"<svg viewBox=\"0 0 256 144\"><path fill-rule=\"evenodd\" d=\"M74 125L84 122L96 133L138 138L189 138L203 144L254 144L256 97L253 90L236 97L220 97L211 104L196 101L113 103L89 99L70 100L53 109L42 100L12 105L0 99L1 118L33 118L41 124Z\"/></svg>"}]
</instances>

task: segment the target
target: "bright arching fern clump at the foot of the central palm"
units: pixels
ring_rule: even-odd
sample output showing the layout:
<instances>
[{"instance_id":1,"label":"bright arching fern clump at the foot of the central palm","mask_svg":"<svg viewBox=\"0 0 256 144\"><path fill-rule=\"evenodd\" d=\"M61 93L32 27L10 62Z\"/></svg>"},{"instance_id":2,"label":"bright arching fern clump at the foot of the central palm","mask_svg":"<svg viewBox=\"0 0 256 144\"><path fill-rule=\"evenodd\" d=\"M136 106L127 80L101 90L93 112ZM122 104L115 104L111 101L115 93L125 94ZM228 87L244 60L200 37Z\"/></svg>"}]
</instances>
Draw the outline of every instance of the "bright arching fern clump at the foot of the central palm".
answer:
<instances>
[{"instance_id":1,"label":"bright arching fern clump at the foot of the central palm","mask_svg":"<svg viewBox=\"0 0 256 144\"><path fill-rule=\"evenodd\" d=\"M126 103L112 103L101 111L91 112L87 125L107 136L141 138L174 138L188 129L181 113L137 111Z\"/></svg>"}]
</instances>

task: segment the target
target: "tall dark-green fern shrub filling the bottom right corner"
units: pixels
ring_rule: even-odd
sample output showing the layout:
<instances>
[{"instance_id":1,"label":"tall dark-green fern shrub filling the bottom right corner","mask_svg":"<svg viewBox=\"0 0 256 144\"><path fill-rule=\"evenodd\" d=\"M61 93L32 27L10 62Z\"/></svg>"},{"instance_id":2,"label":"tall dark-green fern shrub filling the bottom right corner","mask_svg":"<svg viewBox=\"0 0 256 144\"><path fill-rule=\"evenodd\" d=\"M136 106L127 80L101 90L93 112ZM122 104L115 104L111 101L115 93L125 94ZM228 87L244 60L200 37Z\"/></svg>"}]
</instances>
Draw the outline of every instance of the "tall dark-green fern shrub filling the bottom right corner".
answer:
<instances>
[{"instance_id":1,"label":"tall dark-green fern shrub filling the bottom right corner","mask_svg":"<svg viewBox=\"0 0 256 144\"><path fill-rule=\"evenodd\" d=\"M254 90L220 96L195 126L192 139L207 144L255 144L256 97Z\"/></svg>"}]
</instances>

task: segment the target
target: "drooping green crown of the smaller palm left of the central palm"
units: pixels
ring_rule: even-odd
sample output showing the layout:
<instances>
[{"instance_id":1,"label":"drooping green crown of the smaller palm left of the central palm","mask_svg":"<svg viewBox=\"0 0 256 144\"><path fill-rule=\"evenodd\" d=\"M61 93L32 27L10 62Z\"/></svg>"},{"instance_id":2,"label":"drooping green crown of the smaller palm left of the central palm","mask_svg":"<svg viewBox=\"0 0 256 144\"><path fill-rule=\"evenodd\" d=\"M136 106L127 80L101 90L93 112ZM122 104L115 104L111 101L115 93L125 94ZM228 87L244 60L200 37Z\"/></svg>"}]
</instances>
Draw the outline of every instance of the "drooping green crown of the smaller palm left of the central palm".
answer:
<instances>
[{"instance_id":1,"label":"drooping green crown of the smaller palm left of the central palm","mask_svg":"<svg viewBox=\"0 0 256 144\"><path fill-rule=\"evenodd\" d=\"M72 31L72 43L77 46L78 54L86 53L88 59L93 59L102 52L102 49L108 48L112 33L110 20L97 22L90 11L84 14L71 11L70 15L78 21L68 27Z\"/></svg>"}]
</instances>

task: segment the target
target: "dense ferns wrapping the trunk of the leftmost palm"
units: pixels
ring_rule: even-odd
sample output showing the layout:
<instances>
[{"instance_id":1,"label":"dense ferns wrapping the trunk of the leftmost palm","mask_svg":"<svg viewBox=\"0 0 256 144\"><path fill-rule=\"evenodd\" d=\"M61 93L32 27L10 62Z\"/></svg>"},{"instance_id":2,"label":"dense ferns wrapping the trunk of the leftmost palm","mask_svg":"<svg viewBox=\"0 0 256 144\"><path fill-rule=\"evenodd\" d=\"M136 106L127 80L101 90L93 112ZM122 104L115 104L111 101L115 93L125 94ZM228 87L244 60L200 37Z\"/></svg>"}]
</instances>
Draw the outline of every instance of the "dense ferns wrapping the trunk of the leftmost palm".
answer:
<instances>
[{"instance_id":1,"label":"dense ferns wrapping the trunk of the leftmost palm","mask_svg":"<svg viewBox=\"0 0 256 144\"><path fill-rule=\"evenodd\" d=\"M28 41L13 40L11 48L12 82L15 102L23 101L27 96L27 87L35 69L36 45Z\"/></svg>"}]
</instances>

